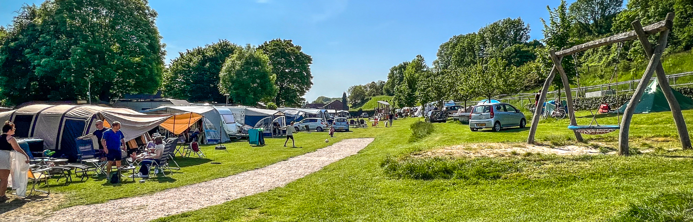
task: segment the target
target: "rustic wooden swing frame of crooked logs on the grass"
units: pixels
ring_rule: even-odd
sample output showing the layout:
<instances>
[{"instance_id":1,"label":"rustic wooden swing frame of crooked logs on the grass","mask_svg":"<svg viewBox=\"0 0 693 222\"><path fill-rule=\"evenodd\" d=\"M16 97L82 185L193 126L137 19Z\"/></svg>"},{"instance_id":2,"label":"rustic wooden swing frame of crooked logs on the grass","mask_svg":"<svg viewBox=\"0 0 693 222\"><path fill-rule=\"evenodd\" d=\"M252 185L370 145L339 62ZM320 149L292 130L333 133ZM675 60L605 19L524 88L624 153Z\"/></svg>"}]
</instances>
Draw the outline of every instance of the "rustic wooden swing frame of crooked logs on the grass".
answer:
<instances>
[{"instance_id":1,"label":"rustic wooden swing frame of crooked logs on the grass","mask_svg":"<svg viewBox=\"0 0 693 222\"><path fill-rule=\"evenodd\" d=\"M621 122L618 136L618 153L620 155L630 154L628 136L631 120L633 119L633 113L635 112L635 107L637 107L638 103L640 102L640 98L642 98L642 94L644 93L645 88L647 88L647 85L649 84L649 79L655 72L657 73L657 81L659 83L659 86L661 87L665 95L665 98L667 98L667 102L669 103L669 108L672 109L672 115L674 115L674 123L676 124L676 129L678 130L678 137L681 139L681 146L683 147L683 149L691 149L691 140L690 136L688 135L686 123L683 120L681 106L678 104L678 101L676 101L676 98L674 97L672 87L669 86L669 81L667 80L667 75L664 72L664 68L661 62L662 53L664 53L664 49L667 47L669 30L671 30L674 24L673 20L674 13L671 12L667 14L665 20L659 21L655 24L651 24L645 27L642 27L642 24L640 24L640 20L635 20L631 23L631 26L633 26L633 30L630 32L612 35L611 37L606 37L603 39L597 39L595 41L590 41L585 44L572 46L571 48L560 50L558 52L550 50L549 55L551 56L551 60L554 63L554 66L551 69L551 73L549 73L549 76L546 78L546 81L543 84L541 93L539 95L539 100L536 104L544 104L544 102L546 101L546 92L548 91L551 82L553 82L556 72L559 73L559 75L561 75L561 81L563 82L563 86L565 88L565 98L566 100L568 100L568 115L570 116L570 125L577 125L577 121L575 120L574 115L575 109L573 106L572 94L570 92L570 84L568 83L568 76L565 75L565 71L563 71L561 59L563 59L563 57L567 55L573 55L574 53L579 53L591 48L599 48L601 46L608 46L611 44L617 44L622 41L630 41L637 38L640 41L640 44L642 44L642 48L644 49L645 54L647 55L647 57L649 57L649 64L647 64L647 68L645 69L645 72L642 75L642 78L640 79L640 83L638 83L638 88L635 89L635 93L633 93L633 97L631 97L631 100L629 101L628 106L626 106L626 110L623 113L623 120ZM647 37L649 35L654 35L656 33L660 33L659 39L657 41L656 48L652 48L652 45L647 39ZM616 81L618 82L618 80ZM532 125L529 128L529 136L527 136L527 143L534 144L535 142L534 135L536 133L536 127L539 123L540 115L541 109L535 109L534 116L532 118ZM573 132L575 133L575 138L579 142L584 141L581 133L579 133L578 131Z\"/></svg>"}]
</instances>

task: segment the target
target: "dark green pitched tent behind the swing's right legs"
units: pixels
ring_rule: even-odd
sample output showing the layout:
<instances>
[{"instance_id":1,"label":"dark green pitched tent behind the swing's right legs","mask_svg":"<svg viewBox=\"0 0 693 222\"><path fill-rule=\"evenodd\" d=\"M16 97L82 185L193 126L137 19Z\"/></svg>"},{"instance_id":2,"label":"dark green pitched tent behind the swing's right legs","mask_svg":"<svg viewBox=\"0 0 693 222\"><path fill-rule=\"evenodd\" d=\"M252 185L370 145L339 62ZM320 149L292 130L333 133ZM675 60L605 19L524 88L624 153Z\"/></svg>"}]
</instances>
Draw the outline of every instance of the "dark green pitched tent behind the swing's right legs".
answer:
<instances>
[{"instance_id":1,"label":"dark green pitched tent behind the swing's right legs","mask_svg":"<svg viewBox=\"0 0 693 222\"><path fill-rule=\"evenodd\" d=\"M693 109L693 100L687 96L679 93L678 91L672 89L676 101L681 105L681 109ZM628 102L623 104L621 108L618 109L620 113L623 113L628 106ZM660 88L657 80L652 81L645 89L638 103L638 107L635 107L635 113L653 113L653 112L663 112L672 111L669 109L669 102L667 98L664 97L662 88Z\"/></svg>"}]
</instances>

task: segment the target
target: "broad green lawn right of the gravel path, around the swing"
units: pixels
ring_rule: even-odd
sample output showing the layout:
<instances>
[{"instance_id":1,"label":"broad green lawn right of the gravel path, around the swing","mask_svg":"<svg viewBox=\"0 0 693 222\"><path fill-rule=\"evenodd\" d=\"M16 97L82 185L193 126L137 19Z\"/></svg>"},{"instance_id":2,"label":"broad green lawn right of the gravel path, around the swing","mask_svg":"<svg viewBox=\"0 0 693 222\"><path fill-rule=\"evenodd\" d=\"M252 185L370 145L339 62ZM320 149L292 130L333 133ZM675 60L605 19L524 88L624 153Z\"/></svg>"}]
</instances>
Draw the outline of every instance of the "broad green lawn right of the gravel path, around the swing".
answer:
<instances>
[{"instance_id":1,"label":"broad green lawn right of the gravel path, around the swing","mask_svg":"<svg viewBox=\"0 0 693 222\"><path fill-rule=\"evenodd\" d=\"M588 114L577 113L578 122L587 124ZM684 111L684 115L692 130L693 111ZM602 124L616 122L611 116L599 120ZM693 151L676 150L680 145L669 112L633 117L631 147L656 150L651 153L591 158L518 156L516 161L508 161L522 166L515 172L473 179L401 178L381 165L387 158L406 158L412 152L450 145L523 142L527 129L471 132L466 125L437 123L430 136L407 142L408 126L415 121L397 120L392 128L354 129L353 135L376 140L360 154L286 187L157 221L638 221L633 215L646 214L647 205L668 203L661 199L685 202L690 195L677 199L666 198L667 194L690 194L693 188ZM567 119L545 120L536 137L565 140L560 138L572 135L567 125ZM585 138L588 143L613 144L617 132ZM450 162L459 160L451 158ZM676 206L660 211L690 220L687 208Z\"/></svg>"}]
</instances>

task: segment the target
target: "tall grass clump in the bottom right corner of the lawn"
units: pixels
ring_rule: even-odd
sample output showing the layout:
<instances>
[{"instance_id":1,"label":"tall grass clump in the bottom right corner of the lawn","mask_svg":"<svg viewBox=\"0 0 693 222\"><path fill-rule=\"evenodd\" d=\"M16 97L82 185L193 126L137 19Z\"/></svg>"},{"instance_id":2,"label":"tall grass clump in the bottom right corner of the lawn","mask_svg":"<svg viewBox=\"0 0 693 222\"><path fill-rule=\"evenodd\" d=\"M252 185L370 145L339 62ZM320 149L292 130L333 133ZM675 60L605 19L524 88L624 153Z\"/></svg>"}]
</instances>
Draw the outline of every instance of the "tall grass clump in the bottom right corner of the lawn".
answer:
<instances>
[{"instance_id":1,"label":"tall grass clump in the bottom right corner of the lawn","mask_svg":"<svg viewBox=\"0 0 693 222\"><path fill-rule=\"evenodd\" d=\"M648 198L640 204L631 203L611 222L693 221L693 192L674 192Z\"/></svg>"}]
</instances>

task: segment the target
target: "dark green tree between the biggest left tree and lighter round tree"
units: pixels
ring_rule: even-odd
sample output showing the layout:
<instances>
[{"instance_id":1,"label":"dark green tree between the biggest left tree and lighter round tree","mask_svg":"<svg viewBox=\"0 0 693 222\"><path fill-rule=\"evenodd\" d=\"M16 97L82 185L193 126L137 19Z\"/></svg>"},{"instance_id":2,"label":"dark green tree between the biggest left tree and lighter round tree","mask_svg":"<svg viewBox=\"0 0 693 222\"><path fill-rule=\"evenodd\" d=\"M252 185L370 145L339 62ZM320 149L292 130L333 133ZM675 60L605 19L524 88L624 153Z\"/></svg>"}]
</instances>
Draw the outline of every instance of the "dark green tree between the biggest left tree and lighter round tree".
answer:
<instances>
[{"instance_id":1,"label":"dark green tree between the biggest left tree and lighter round tree","mask_svg":"<svg viewBox=\"0 0 693 222\"><path fill-rule=\"evenodd\" d=\"M224 39L180 53L164 71L164 95L191 102L225 102L219 92L219 73L227 57L239 48Z\"/></svg>"}]
</instances>

